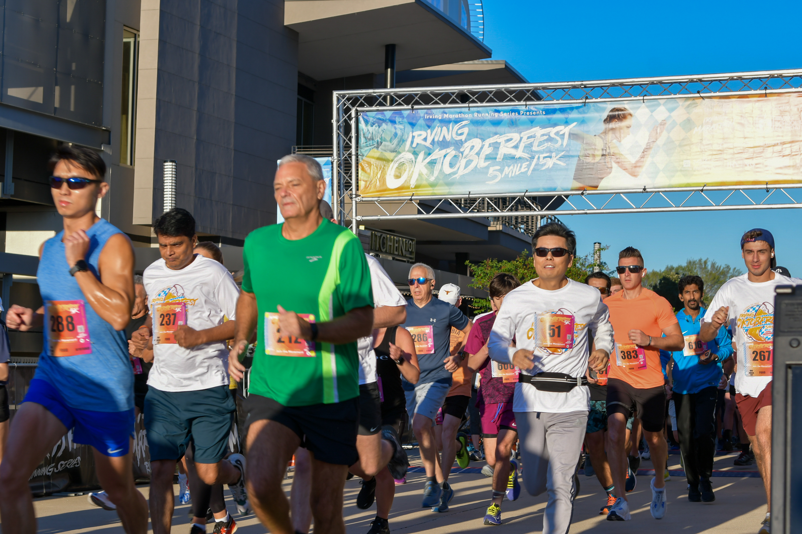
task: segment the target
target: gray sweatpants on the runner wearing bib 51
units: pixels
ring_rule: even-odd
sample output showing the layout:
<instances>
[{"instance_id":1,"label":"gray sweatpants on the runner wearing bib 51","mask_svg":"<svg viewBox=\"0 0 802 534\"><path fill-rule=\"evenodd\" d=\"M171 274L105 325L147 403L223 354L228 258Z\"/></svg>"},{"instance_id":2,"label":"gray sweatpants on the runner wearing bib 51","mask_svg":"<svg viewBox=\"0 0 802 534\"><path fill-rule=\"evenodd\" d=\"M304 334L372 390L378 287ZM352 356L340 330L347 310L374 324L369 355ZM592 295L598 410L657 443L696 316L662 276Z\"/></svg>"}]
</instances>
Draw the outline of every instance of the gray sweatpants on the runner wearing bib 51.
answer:
<instances>
[{"instance_id":1,"label":"gray sweatpants on the runner wearing bib 51","mask_svg":"<svg viewBox=\"0 0 802 534\"><path fill-rule=\"evenodd\" d=\"M574 475L585 440L588 412L515 412L520 438L524 487L530 495L549 492L543 534L566 534L571 528Z\"/></svg>"}]
</instances>

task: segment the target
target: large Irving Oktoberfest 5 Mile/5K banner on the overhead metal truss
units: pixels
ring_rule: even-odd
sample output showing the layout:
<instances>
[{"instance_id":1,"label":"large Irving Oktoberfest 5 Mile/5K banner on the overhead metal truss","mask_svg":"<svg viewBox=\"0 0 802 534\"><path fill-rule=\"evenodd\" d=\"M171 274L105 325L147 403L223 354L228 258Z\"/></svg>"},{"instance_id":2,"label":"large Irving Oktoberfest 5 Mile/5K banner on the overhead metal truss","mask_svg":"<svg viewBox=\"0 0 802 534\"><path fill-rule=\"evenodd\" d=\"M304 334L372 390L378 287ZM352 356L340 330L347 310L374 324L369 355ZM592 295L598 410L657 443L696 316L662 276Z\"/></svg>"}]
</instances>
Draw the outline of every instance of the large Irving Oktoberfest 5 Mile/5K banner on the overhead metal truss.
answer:
<instances>
[{"instance_id":1,"label":"large Irving Oktoberfest 5 Mile/5K banner on the overhead metal truss","mask_svg":"<svg viewBox=\"0 0 802 534\"><path fill-rule=\"evenodd\" d=\"M359 193L802 182L802 94L363 112Z\"/></svg>"}]
</instances>

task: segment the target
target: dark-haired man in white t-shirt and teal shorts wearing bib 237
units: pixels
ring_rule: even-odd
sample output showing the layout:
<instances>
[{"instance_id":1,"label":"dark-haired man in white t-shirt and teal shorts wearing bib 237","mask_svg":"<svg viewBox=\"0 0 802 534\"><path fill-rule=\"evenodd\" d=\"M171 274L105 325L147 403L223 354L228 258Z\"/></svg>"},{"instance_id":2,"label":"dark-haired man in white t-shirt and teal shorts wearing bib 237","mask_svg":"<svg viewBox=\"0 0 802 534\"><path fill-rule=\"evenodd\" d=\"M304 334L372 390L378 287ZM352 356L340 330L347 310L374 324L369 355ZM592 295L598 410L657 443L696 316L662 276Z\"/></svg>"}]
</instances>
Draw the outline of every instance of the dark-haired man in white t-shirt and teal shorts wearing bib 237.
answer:
<instances>
[{"instance_id":1,"label":"dark-haired man in white t-shirt and teal shorts wearing bib 237","mask_svg":"<svg viewBox=\"0 0 802 534\"><path fill-rule=\"evenodd\" d=\"M229 391L225 340L234 337L240 291L221 263L194 254L195 219L188 211L175 208L164 213L153 231L161 259L143 275L153 319L149 347L153 367L144 423L151 456L153 532L168 534L172 474L187 448L192 448L196 472L205 484L229 484L237 508L241 512L248 508L245 457L233 454L223 459L237 411ZM237 528L228 513L216 519L222 534ZM205 525L197 526L205 532Z\"/></svg>"}]
</instances>

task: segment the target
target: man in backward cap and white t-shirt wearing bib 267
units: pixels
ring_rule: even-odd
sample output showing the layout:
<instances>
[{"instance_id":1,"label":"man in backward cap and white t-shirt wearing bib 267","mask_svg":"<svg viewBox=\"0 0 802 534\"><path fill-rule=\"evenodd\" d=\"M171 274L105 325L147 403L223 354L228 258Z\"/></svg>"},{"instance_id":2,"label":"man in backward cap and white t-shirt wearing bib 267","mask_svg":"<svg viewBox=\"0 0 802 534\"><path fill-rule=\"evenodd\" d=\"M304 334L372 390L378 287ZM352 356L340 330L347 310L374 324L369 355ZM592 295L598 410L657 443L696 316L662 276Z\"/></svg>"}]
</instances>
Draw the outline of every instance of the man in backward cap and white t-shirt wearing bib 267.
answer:
<instances>
[{"instance_id":1,"label":"man in backward cap and white t-shirt wearing bib 267","mask_svg":"<svg viewBox=\"0 0 802 534\"><path fill-rule=\"evenodd\" d=\"M716 292L704 316L699 339L715 339L719 328L732 331L735 346L735 402L749 436L766 489L766 508L772 509L772 350L775 287L802 280L772 271L774 236L763 228L741 237L741 257L747 273L727 280ZM770 534L766 512L759 534Z\"/></svg>"}]
</instances>

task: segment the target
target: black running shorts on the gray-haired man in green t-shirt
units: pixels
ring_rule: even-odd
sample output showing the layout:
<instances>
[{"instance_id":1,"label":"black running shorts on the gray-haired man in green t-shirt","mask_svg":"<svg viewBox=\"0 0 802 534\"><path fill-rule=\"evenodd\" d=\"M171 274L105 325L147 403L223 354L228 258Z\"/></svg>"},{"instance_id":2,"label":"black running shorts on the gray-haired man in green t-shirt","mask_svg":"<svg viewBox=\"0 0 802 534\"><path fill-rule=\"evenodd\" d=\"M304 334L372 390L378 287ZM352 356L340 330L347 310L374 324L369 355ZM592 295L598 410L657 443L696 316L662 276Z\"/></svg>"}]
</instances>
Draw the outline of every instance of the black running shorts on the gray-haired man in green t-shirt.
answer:
<instances>
[{"instance_id":1,"label":"black running shorts on the gray-haired man in green t-shirt","mask_svg":"<svg viewBox=\"0 0 802 534\"><path fill-rule=\"evenodd\" d=\"M258 420L271 420L295 432L301 446L326 464L353 465L359 423L359 397L333 404L284 406L269 397L251 393L243 402L245 436Z\"/></svg>"}]
</instances>

